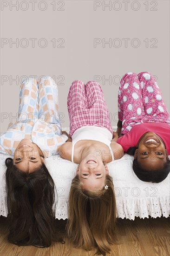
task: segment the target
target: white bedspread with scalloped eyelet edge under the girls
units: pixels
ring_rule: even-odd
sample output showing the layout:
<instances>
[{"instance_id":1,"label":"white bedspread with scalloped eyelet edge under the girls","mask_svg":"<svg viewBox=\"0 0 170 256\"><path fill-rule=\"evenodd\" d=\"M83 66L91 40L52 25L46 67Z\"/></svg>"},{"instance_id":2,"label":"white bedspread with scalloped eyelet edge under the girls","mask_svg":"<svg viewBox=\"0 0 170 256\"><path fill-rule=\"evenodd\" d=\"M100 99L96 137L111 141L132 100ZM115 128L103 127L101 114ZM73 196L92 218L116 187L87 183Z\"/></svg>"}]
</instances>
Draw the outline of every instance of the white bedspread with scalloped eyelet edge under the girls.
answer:
<instances>
[{"instance_id":1,"label":"white bedspread with scalloped eyelet edge under the girls","mask_svg":"<svg viewBox=\"0 0 170 256\"><path fill-rule=\"evenodd\" d=\"M115 127L113 127L115 130ZM67 130L68 128L63 128ZM7 217L5 189L5 159L0 154L0 215ZM170 158L170 156L169 156ZM170 216L170 174L160 183L140 181L132 170L133 157L125 154L123 158L108 164L117 202L118 218L134 220L135 217ZM46 166L55 182L56 197L54 209L57 219L66 219L67 203L72 178L75 176L77 164L55 155L46 159Z\"/></svg>"}]
</instances>

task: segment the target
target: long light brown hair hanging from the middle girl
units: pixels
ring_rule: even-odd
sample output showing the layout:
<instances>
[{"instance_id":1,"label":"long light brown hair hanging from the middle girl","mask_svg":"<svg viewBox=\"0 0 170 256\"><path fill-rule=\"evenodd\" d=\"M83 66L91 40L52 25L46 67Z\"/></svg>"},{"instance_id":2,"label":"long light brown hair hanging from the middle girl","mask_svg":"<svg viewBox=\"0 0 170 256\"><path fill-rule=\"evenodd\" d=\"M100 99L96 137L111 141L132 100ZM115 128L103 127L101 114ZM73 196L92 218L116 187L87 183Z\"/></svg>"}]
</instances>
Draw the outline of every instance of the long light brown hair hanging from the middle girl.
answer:
<instances>
[{"instance_id":1,"label":"long light brown hair hanging from the middle girl","mask_svg":"<svg viewBox=\"0 0 170 256\"><path fill-rule=\"evenodd\" d=\"M76 175L69 194L67 234L75 247L97 247L98 255L109 253L114 242L116 198L110 175L105 185L107 189L83 190Z\"/></svg>"}]
</instances>

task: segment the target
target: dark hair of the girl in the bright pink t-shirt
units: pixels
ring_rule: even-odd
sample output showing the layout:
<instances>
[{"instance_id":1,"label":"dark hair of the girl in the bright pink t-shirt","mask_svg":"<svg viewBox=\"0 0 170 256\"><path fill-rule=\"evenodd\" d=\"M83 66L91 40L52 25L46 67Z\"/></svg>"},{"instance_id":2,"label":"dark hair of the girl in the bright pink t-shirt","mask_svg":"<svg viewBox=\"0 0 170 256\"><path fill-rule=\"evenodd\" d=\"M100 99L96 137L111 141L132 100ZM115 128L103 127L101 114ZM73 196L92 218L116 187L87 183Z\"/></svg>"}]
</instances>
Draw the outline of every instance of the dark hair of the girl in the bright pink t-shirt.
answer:
<instances>
[{"instance_id":1,"label":"dark hair of the girl in the bright pink t-shirt","mask_svg":"<svg viewBox=\"0 0 170 256\"><path fill-rule=\"evenodd\" d=\"M127 154L134 155L136 147L131 147L127 150ZM170 159L164 163L163 168L160 170L147 170L140 166L137 159L133 160L133 171L139 178L139 180L144 182L162 182L170 173Z\"/></svg>"}]
</instances>

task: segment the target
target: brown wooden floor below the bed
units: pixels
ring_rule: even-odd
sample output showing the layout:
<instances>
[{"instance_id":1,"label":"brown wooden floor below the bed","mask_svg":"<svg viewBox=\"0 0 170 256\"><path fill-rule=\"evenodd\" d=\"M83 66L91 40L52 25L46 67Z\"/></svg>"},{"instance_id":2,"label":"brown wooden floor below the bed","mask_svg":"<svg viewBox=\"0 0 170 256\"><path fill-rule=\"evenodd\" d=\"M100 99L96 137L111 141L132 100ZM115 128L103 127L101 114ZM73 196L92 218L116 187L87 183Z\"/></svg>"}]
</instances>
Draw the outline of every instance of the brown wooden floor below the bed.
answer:
<instances>
[{"instance_id":1,"label":"brown wooden floor below the bed","mask_svg":"<svg viewBox=\"0 0 170 256\"><path fill-rule=\"evenodd\" d=\"M65 232L66 221L56 220ZM170 218L118 219L116 226L118 244L112 245L110 256L170 256ZM0 217L0 256L92 256L95 250L75 249L65 239L65 244L53 243L49 248L18 247L7 242L7 218ZM109 255L109 254L108 254Z\"/></svg>"}]
</instances>

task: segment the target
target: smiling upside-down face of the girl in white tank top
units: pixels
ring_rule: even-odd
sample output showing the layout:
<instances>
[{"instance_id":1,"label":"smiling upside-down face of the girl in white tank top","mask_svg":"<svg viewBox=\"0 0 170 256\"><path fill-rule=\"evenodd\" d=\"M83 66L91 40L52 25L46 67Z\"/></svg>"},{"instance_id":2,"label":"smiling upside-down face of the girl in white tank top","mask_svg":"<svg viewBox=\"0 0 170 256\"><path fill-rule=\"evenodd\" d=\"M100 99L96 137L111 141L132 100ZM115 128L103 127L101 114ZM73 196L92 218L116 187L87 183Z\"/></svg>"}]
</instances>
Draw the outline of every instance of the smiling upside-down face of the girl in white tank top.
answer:
<instances>
[{"instance_id":1,"label":"smiling upside-down face of the girl in white tank top","mask_svg":"<svg viewBox=\"0 0 170 256\"><path fill-rule=\"evenodd\" d=\"M95 191L97 188L103 189L105 178L109 173L101 159L83 159L77 168L76 174L83 183L82 188Z\"/></svg>"}]
</instances>

